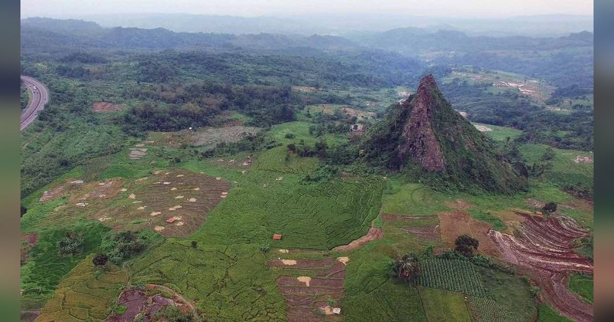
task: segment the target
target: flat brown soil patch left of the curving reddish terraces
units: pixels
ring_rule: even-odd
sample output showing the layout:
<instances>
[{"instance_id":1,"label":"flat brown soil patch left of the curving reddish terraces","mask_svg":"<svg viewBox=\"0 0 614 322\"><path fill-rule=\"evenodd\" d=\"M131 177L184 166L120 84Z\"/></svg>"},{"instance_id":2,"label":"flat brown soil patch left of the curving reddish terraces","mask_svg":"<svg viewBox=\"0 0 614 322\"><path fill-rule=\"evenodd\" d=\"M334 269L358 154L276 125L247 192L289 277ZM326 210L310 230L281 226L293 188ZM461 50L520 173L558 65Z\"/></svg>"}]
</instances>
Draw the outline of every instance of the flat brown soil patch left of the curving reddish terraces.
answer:
<instances>
[{"instance_id":1,"label":"flat brown soil patch left of the curving reddish terraces","mask_svg":"<svg viewBox=\"0 0 614 322\"><path fill-rule=\"evenodd\" d=\"M441 241L449 248L454 247L454 240L461 235L468 235L480 241L478 253L499 257L499 250L488 237L491 225L473 219L468 212L454 210L438 214L441 230Z\"/></svg>"}]
</instances>

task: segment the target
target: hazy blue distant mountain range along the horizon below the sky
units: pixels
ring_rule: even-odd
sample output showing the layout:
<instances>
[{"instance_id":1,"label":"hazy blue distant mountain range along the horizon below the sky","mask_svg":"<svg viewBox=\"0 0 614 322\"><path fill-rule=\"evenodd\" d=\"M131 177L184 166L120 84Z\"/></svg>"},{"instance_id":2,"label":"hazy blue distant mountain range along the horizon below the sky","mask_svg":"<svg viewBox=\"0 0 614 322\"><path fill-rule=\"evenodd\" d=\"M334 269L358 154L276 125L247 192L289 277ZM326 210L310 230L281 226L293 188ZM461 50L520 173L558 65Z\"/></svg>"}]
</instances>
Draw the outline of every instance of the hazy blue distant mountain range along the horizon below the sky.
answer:
<instances>
[{"instance_id":1,"label":"hazy blue distant mountain range along the horizon below the sky","mask_svg":"<svg viewBox=\"0 0 614 322\"><path fill-rule=\"evenodd\" d=\"M418 54L422 52L476 52L483 50L555 50L557 48L592 47L593 33L584 31L563 37L489 37L469 36L461 31L430 31L423 28L396 28L383 32L354 33L348 37L313 34L279 33L187 33L165 28L105 28L92 21L27 18L21 20L21 42L41 44L58 38L65 44L90 48L249 48L287 50L315 48L317 50L355 50L361 47L391 52ZM36 39L36 41L33 41Z\"/></svg>"}]
</instances>

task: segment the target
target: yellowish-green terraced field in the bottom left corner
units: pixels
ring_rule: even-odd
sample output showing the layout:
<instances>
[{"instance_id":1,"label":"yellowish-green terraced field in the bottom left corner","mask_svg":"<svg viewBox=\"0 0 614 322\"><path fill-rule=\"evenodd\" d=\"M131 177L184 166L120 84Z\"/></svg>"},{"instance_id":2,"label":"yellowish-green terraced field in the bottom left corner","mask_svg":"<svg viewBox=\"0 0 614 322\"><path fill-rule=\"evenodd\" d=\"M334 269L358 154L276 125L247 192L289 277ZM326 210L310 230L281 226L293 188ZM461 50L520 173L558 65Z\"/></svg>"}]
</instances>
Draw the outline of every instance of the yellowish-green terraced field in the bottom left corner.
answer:
<instances>
[{"instance_id":1,"label":"yellowish-green terraced field in the bottom left corner","mask_svg":"<svg viewBox=\"0 0 614 322\"><path fill-rule=\"evenodd\" d=\"M104 321L107 318L128 276L112 264L99 269L91 259L88 256L80 261L62 279L36 321Z\"/></svg>"}]
</instances>

